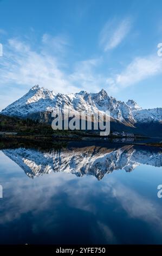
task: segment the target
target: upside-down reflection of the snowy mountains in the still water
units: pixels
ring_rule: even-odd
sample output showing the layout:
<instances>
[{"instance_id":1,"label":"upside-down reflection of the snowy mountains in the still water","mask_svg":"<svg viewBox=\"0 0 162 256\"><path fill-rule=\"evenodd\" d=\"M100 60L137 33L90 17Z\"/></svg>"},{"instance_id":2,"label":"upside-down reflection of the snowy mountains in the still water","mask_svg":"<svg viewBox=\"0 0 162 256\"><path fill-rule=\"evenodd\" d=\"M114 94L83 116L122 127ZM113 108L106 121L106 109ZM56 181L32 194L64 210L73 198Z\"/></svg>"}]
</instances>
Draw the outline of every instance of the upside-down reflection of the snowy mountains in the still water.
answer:
<instances>
[{"instance_id":1,"label":"upside-down reflection of the snowy mountains in the still water","mask_svg":"<svg viewBox=\"0 0 162 256\"><path fill-rule=\"evenodd\" d=\"M42 152L34 149L6 149L3 153L20 166L29 178L51 172L94 175L101 180L105 174L123 169L131 172L140 164L162 166L161 150L126 145L121 148L96 146Z\"/></svg>"}]
</instances>

